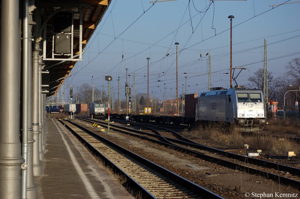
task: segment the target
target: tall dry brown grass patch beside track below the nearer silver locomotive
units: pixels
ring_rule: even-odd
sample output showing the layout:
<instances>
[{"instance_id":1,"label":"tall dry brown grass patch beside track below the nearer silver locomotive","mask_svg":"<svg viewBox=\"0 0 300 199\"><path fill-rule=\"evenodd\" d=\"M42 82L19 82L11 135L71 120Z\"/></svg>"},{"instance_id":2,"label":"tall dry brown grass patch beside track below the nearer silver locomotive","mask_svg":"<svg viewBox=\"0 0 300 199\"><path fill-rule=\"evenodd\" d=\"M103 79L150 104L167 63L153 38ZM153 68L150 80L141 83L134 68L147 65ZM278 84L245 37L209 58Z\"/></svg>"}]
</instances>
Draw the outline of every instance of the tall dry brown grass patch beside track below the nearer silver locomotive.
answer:
<instances>
[{"instance_id":1,"label":"tall dry brown grass patch beside track below the nearer silver locomotive","mask_svg":"<svg viewBox=\"0 0 300 199\"><path fill-rule=\"evenodd\" d=\"M212 124L205 128L198 127L191 132L184 132L190 138L213 143L221 149L243 149L249 145L248 151L262 150L264 153L285 156L286 151L300 153L300 145L286 138L279 139L271 135L243 134L237 129L224 130L223 125Z\"/></svg>"}]
</instances>

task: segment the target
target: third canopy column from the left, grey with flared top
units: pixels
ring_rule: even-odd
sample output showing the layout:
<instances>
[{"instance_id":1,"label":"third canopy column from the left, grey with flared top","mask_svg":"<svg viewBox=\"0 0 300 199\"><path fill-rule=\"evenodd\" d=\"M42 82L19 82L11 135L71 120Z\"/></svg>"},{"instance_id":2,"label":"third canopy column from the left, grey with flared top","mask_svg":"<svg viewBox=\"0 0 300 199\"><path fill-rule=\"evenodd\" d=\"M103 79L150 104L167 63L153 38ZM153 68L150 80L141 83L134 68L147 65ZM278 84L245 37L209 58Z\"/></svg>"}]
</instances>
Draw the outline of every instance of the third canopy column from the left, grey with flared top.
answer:
<instances>
[{"instance_id":1,"label":"third canopy column from the left, grey with flared top","mask_svg":"<svg viewBox=\"0 0 300 199\"><path fill-rule=\"evenodd\" d=\"M32 126L33 126L33 175L42 175L42 165L40 162L40 129L39 129L39 60L40 43L35 39L32 51Z\"/></svg>"}]
</instances>

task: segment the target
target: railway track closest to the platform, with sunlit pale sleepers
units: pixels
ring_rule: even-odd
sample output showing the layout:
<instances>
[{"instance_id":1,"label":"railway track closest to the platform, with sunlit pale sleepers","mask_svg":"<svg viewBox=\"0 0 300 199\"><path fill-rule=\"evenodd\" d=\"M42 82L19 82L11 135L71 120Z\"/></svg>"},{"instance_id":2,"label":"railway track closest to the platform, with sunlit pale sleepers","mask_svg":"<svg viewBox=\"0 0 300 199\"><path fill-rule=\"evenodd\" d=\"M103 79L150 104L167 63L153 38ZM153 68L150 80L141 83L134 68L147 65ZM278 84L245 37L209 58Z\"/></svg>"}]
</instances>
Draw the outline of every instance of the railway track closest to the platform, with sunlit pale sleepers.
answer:
<instances>
[{"instance_id":1,"label":"railway track closest to the platform, with sunlit pale sleepers","mask_svg":"<svg viewBox=\"0 0 300 199\"><path fill-rule=\"evenodd\" d=\"M69 120L62 121L93 153L127 176L143 198L221 198Z\"/></svg>"}]
</instances>

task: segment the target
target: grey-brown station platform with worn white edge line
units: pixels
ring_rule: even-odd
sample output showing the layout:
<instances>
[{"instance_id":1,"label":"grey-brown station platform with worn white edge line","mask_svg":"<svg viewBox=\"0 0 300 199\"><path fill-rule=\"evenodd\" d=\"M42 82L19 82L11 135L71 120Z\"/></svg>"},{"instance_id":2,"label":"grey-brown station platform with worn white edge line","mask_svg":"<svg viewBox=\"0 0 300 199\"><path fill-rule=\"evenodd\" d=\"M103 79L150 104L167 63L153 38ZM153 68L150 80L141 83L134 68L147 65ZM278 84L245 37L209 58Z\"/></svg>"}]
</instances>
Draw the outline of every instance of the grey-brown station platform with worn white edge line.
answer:
<instances>
[{"instance_id":1,"label":"grey-brown station platform with worn white edge line","mask_svg":"<svg viewBox=\"0 0 300 199\"><path fill-rule=\"evenodd\" d=\"M47 118L43 175L35 177L38 198L133 199L117 180L56 119Z\"/></svg>"}]
</instances>

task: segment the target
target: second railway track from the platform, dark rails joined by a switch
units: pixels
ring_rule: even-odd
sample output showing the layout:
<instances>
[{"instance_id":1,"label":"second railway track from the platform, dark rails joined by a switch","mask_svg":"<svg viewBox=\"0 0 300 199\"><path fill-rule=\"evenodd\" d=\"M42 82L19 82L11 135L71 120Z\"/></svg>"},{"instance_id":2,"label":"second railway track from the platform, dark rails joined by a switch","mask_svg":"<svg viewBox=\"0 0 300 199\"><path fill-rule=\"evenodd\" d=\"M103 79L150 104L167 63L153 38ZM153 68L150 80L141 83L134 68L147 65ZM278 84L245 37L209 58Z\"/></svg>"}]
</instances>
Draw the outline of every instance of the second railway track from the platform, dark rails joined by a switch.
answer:
<instances>
[{"instance_id":1,"label":"second railway track from the platform, dark rails joined by a switch","mask_svg":"<svg viewBox=\"0 0 300 199\"><path fill-rule=\"evenodd\" d=\"M90 122L100 122L90 119L85 120ZM103 126L107 124L105 122L101 123ZM138 125L136 123L130 124ZM247 172L250 174L264 176L268 179L277 180L280 181L280 183L295 186L298 189L300 188L300 169L298 168L293 168L290 166L281 165L274 162L269 162L247 156L241 156L235 153L230 153L202 144L198 144L184 138L183 136L177 134L176 132L170 129L168 129L167 135L170 135L170 132L172 132L172 138L165 137L164 133L162 133L161 131L158 132L155 129L152 129L152 132L143 132L141 130L129 129L125 126L117 126L115 124L110 124L110 126L114 130L117 130L119 132L134 135L143 139L149 139L152 142L160 143L166 145L167 147L172 147L178 151L191 154L195 157L205 159L209 162L214 162L232 169L238 169L240 171ZM142 126L146 127L145 124L143 124ZM151 129L151 127L149 126L147 128ZM160 127L155 126L154 128ZM166 128L163 129L164 131L167 131Z\"/></svg>"}]
</instances>

